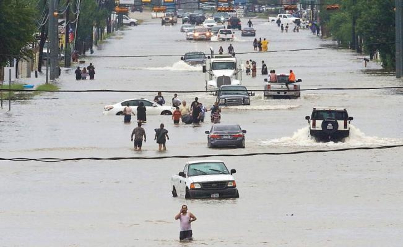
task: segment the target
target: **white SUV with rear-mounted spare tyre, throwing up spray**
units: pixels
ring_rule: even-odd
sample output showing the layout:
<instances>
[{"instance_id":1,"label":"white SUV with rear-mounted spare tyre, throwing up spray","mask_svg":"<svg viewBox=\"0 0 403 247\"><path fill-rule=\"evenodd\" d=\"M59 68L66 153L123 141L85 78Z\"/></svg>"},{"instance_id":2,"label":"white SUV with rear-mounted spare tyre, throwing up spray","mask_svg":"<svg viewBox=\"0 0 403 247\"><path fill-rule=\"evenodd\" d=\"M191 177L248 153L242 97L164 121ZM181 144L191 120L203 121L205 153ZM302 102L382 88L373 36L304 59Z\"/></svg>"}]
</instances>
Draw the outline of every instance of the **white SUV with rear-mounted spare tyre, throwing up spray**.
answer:
<instances>
[{"instance_id":1,"label":"white SUV with rear-mounted spare tyre, throwing up spray","mask_svg":"<svg viewBox=\"0 0 403 247\"><path fill-rule=\"evenodd\" d=\"M312 111L312 115L306 116L309 123L309 132L317 141L340 141L350 134L350 122L345 108L319 108Z\"/></svg>"}]
</instances>

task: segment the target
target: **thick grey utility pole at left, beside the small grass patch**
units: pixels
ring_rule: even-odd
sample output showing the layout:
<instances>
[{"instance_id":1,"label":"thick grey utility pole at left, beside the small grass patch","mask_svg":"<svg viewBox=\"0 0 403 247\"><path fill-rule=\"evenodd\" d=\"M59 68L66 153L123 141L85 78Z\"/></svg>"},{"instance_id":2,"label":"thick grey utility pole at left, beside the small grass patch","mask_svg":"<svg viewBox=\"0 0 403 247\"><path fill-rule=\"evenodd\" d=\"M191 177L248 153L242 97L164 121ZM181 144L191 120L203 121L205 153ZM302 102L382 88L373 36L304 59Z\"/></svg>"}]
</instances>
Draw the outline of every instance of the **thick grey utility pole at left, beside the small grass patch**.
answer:
<instances>
[{"instance_id":1,"label":"thick grey utility pole at left, beside the small grass patch","mask_svg":"<svg viewBox=\"0 0 403 247\"><path fill-rule=\"evenodd\" d=\"M50 45L50 80L59 77L58 72L58 55L59 55L59 32L57 19L57 0L50 0L49 4L49 45ZM56 16L55 16L56 15Z\"/></svg>"}]
</instances>

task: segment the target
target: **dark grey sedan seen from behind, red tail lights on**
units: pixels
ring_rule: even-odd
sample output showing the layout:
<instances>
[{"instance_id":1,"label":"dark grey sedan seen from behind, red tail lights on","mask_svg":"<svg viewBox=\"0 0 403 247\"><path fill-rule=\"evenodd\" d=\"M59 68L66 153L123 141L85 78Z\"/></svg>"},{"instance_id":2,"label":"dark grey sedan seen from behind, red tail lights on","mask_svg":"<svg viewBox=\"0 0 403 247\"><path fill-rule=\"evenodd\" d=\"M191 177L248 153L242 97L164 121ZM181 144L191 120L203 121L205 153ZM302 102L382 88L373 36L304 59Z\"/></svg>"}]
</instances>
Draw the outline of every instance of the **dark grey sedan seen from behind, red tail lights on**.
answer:
<instances>
[{"instance_id":1,"label":"dark grey sedan seen from behind, red tail lights on","mask_svg":"<svg viewBox=\"0 0 403 247\"><path fill-rule=\"evenodd\" d=\"M242 130L237 124L216 123L210 131L206 131L207 146L214 148L218 146L236 146L245 148L246 130Z\"/></svg>"}]
</instances>

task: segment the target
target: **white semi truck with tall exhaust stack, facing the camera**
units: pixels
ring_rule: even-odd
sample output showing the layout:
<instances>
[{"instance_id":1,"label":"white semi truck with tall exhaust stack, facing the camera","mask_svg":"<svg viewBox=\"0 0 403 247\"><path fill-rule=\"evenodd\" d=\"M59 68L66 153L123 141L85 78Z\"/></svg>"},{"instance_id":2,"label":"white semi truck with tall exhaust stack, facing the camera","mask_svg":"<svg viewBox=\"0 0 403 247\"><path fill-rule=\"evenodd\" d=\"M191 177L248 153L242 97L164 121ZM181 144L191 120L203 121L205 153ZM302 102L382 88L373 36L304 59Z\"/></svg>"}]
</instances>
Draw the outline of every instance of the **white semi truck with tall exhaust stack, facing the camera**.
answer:
<instances>
[{"instance_id":1,"label":"white semi truck with tall exhaust stack, facing the camera","mask_svg":"<svg viewBox=\"0 0 403 247\"><path fill-rule=\"evenodd\" d=\"M203 73L206 74L206 91L222 85L239 85L242 81L241 59L231 54L213 54L206 60Z\"/></svg>"}]
</instances>

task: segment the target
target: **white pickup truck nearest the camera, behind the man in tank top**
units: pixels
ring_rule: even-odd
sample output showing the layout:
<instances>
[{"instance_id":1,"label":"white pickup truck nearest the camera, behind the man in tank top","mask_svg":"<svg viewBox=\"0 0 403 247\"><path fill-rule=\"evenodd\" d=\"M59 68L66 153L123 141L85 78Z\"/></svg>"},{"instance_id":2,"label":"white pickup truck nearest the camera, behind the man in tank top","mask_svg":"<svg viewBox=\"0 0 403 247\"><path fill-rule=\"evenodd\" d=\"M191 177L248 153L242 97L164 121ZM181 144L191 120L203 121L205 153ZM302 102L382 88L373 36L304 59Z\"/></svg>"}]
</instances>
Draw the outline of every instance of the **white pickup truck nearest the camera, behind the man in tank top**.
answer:
<instances>
[{"instance_id":1,"label":"white pickup truck nearest the camera, behind the man in tank top","mask_svg":"<svg viewBox=\"0 0 403 247\"><path fill-rule=\"evenodd\" d=\"M222 161L189 161L172 175L172 196L182 198L238 198L233 173Z\"/></svg>"}]
</instances>

